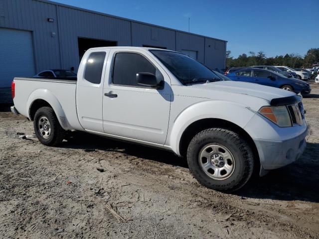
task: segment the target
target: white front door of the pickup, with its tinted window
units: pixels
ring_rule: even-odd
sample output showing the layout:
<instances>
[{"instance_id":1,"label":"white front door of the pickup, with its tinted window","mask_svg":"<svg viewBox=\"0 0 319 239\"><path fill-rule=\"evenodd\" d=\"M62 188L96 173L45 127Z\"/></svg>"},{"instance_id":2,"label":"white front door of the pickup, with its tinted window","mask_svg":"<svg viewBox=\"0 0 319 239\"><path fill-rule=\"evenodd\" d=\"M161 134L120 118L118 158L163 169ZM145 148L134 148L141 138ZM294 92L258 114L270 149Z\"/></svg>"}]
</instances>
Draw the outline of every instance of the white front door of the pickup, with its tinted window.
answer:
<instances>
[{"instance_id":1,"label":"white front door of the pickup, with its tinted window","mask_svg":"<svg viewBox=\"0 0 319 239\"><path fill-rule=\"evenodd\" d=\"M103 91L104 132L164 144L171 97L168 75L151 55L140 50L113 49L110 59L112 74L108 80L106 76ZM158 81L164 81L163 89L139 85L139 72L155 74Z\"/></svg>"}]
</instances>

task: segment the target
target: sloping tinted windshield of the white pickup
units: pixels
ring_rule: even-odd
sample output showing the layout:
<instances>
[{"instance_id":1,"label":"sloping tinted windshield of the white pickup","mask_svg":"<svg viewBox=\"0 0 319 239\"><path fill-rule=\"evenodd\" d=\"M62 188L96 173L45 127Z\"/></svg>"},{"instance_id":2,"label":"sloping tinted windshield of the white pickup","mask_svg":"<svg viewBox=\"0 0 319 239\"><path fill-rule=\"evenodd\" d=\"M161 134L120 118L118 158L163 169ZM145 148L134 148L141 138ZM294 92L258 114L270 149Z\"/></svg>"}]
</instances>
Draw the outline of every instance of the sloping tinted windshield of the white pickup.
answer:
<instances>
[{"instance_id":1,"label":"sloping tinted windshield of the white pickup","mask_svg":"<svg viewBox=\"0 0 319 239\"><path fill-rule=\"evenodd\" d=\"M222 80L206 66L185 54L164 50L150 51L184 85Z\"/></svg>"}]
</instances>

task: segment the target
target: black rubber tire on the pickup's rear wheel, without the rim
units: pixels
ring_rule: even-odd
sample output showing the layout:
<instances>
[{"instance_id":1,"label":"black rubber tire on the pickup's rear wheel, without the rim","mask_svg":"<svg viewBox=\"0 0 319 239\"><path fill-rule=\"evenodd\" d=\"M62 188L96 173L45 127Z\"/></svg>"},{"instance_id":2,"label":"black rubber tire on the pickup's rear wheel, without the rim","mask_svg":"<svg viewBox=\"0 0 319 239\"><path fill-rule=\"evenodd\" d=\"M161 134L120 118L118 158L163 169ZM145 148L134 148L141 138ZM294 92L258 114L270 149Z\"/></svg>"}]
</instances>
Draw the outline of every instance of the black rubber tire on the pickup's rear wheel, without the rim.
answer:
<instances>
[{"instance_id":1,"label":"black rubber tire on the pickup's rear wheel, without the rim","mask_svg":"<svg viewBox=\"0 0 319 239\"><path fill-rule=\"evenodd\" d=\"M42 117L48 119L50 124L50 134L46 138L41 134L38 126ZM56 146L64 139L65 130L61 127L53 109L50 107L41 107L35 112L33 127L37 138L44 145Z\"/></svg>"}]
</instances>

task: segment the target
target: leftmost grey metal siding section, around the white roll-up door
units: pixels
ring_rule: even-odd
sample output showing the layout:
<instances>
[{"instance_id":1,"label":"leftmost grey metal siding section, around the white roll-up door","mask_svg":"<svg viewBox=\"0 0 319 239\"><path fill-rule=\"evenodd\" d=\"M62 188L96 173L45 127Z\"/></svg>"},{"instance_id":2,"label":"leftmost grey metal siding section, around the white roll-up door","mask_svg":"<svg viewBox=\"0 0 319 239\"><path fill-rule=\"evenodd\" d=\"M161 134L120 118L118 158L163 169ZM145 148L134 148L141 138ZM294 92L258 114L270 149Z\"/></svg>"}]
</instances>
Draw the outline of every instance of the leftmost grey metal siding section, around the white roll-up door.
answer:
<instances>
[{"instance_id":1,"label":"leftmost grey metal siding section, around the white roll-up door","mask_svg":"<svg viewBox=\"0 0 319 239\"><path fill-rule=\"evenodd\" d=\"M47 18L55 22L47 22ZM55 5L33 0L4 0L4 20L0 27L33 31L37 71L60 66Z\"/></svg>"}]
</instances>

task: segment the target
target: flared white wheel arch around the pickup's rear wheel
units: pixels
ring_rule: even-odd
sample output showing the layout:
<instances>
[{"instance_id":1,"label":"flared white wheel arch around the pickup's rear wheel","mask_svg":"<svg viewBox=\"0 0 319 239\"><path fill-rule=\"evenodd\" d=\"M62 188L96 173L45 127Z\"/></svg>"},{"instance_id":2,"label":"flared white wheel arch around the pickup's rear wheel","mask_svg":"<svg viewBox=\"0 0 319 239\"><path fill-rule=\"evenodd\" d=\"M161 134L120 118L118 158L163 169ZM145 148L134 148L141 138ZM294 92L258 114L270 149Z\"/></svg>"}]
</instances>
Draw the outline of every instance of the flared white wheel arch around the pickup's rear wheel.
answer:
<instances>
[{"instance_id":1,"label":"flared white wheel arch around the pickup's rear wheel","mask_svg":"<svg viewBox=\"0 0 319 239\"><path fill-rule=\"evenodd\" d=\"M26 111L25 111L25 112L28 112L29 119L31 119L30 108L33 102L36 100L44 100L50 104L63 129L68 130L72 128L65 116L63 108L61 104L59 103L58 99L52 94L52 92L48 91L47 89L36 89L30 94L27 100Z\"/></svg>"}]
</instances>

